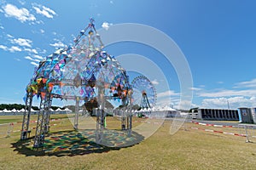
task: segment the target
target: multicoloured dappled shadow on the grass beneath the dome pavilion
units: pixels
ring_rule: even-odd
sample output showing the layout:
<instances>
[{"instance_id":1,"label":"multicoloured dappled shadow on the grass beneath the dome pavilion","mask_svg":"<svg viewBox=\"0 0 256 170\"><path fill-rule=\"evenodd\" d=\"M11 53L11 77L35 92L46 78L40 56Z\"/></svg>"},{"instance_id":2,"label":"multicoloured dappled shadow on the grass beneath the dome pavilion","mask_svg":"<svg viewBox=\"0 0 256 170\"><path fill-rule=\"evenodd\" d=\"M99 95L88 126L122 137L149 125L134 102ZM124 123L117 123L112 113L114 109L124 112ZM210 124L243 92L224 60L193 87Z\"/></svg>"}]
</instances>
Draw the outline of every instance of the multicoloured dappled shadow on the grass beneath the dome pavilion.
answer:
<instances>
[{"instance_id":1,"label":"multicoloured dappled shadow on the grass beneath the dome pavilion","mask_svg":"<svg viewBox=\"0 0 256 170\"><path fill-rule=\"evenodd\" d=\"M33 139L19 140L13 143L12 148L25 156L81 156L91 153L103 153L110 150L131 147L143 141L141 134L132 132L127 137L119 130L105 130L101 144L95 142L96 130L62 131L50 133L45 138L44 148L32 148Z\"/></svg>"}]
</instances>

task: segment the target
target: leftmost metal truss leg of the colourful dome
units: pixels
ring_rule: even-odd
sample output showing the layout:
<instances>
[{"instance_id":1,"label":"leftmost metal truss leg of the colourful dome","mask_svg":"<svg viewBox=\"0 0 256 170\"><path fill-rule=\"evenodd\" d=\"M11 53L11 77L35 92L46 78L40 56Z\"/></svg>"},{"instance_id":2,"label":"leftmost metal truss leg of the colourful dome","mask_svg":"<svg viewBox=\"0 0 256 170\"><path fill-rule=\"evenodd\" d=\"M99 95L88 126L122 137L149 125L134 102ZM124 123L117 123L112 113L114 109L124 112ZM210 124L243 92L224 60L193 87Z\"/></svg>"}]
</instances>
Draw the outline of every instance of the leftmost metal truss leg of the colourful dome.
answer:
<instances>
[{"instance_id":1,"label":"leftmost metal truss leg of the colourful dome","mask_svg":"<svg viewBox=\"0 0 256 170\"><path fill-rule=\"evenodd\" d=\"M22 121L21 133L20 133L21 140L27 139L27 135L28 133L30 133L29 122L30 122L30 115L31 115L31 108L32 108L32 98L33 98L32 92L26 92L26 106L25 106L25 112L23 115L23 121Z\"/></svg>"}]
</instances>

